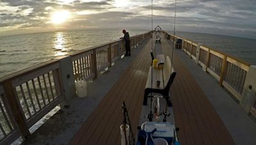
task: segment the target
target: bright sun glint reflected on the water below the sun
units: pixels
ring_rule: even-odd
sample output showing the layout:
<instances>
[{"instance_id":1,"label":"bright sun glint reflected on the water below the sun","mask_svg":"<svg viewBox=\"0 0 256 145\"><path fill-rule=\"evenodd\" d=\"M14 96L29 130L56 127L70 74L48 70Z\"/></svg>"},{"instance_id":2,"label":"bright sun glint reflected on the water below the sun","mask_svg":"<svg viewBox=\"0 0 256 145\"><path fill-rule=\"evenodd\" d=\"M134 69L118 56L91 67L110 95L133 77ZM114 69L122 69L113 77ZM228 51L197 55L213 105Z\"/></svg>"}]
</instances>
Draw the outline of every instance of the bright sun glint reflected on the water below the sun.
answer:
<instances>
[{"instance_id":1,"label":"bright sun glint reflected on the water below the sun","mask_svg":"<svg viewBox=\"0 0 256 145\"><path fill-rule=\"evenodd\" d=\"M67 43L67 40L63 37L63 32L56 32L56 40L54 41L54 57L67 55L67 48L63 47Z\"/></svg>"}]
</instances>

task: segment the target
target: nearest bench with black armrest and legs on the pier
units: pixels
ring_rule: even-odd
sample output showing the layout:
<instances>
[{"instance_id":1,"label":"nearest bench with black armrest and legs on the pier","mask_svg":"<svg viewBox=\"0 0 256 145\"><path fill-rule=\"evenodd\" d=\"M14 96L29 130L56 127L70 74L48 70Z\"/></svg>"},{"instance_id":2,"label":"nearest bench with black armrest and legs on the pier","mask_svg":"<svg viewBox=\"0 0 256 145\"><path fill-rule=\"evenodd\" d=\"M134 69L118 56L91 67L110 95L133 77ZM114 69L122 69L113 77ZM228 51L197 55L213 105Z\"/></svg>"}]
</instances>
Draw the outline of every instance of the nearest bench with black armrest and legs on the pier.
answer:
<instances>
[{"instance_id":1,"label":"nearest bench with black armrest and legs on the pier","mask_svg":"<svg viewBox=\"0 0 256 145\"><path fill-rule=\"evenodd\" d=\"M176 72L172 67L170 57L168 56L163 64L163 69L152 69L152 66L150 66L145 86L143 105L147 105L147 98L152 97L148 96L149 93L160 93L166 99L168 106L171 107L172 102L170 101L169 90L175 75ZM159 86L157 86L157 81L160 81Z\"/></svg>"}]
</instances>

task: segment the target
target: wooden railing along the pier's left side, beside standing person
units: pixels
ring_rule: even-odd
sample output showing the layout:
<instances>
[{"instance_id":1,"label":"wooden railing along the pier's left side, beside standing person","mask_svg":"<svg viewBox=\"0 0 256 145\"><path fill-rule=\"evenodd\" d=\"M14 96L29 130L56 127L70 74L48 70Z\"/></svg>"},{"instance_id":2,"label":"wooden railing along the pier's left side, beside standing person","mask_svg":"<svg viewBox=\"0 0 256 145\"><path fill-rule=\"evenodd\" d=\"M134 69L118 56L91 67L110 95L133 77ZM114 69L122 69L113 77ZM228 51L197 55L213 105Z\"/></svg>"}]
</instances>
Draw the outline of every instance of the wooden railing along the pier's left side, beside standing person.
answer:
<instances>
[{"instance_id":1,"label":"wooden railing along the pier's left side, beside standing person","mask_svg":"<svg viewBox=\"0 0 256 145\"><path fill-rule=\"evenodd\" d=\"M131 48L150 36L145 33L131 37ZM0 144L10 144L20 136L26 139L31 134L29 128L61 102L74 97L75 80L96 79L124 53L124 41L113 41L1 78Z\"/></svg>"}]
</instances>

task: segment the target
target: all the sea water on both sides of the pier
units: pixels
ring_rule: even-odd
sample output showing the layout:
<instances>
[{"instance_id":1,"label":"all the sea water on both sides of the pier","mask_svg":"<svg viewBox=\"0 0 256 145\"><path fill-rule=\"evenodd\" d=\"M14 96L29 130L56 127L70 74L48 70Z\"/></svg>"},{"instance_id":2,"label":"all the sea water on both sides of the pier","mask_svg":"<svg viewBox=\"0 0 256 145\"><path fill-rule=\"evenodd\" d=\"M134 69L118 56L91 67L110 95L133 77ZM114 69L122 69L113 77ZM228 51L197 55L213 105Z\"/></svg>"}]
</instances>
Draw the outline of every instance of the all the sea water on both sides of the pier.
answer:
<instances>
[{"instance_id":1,"label":"all the sea water on both sides of the pier","mask_svg":"<svg viewBox=\"0 0 256 145\"><path fill-rule=\"evenodd\" d=\"M147 31L129 31L136 36ZM118 40L122 30L65 31L0 37L0 78L54 57ZM178 36L227 53L256 65L256 40L177 32Z\"/></svg>"}]
</instances>

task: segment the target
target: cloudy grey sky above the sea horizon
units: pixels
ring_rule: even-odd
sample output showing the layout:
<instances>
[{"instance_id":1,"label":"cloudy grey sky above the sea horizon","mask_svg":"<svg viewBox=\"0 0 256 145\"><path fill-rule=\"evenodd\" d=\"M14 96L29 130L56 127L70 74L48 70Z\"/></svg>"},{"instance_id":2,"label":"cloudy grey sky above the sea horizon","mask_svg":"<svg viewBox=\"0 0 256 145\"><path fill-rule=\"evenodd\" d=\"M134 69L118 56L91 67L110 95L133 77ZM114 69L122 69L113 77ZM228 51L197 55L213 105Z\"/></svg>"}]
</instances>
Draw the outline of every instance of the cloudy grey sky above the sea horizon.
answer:
<instances>
[{"instance_id":1,"label":"cloudy grey sky above the sea horizon","mask_svg":"<svg viewBox=\"0 0 256 145\"><path fill-rule=\"evenodd\" d=\"M173 30L174 3L153 1L154 27ZM0 36L77 29L150 30L151 0L0 0ZM177 0L176 30L255 39L256 0Z\"/></svg>"}]
</instances>

